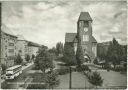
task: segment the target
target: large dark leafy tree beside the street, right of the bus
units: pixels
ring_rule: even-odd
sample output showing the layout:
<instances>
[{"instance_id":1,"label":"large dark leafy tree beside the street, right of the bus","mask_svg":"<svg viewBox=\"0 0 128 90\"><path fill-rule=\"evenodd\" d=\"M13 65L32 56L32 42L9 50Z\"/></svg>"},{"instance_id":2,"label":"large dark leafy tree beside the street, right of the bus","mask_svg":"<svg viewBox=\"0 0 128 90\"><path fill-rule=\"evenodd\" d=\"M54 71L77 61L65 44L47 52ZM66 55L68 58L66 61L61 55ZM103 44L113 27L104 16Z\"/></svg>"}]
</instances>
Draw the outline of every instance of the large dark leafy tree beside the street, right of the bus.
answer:
<instances>
[{"instance_id":1,"label":"large dark leafy tree beside the street, right of the bus","mask_svg":"<svg viewBox=\"0 0 128 90\"><path fill-rule=\"evenodd\" d=\"M53 62L52 62L51 55L45 46L42 46L39 49L39 53L35 59L35 66L38 69L41 69L43 73L45 73L46 69L53 68Z\"/></svg>"}]
</instances>

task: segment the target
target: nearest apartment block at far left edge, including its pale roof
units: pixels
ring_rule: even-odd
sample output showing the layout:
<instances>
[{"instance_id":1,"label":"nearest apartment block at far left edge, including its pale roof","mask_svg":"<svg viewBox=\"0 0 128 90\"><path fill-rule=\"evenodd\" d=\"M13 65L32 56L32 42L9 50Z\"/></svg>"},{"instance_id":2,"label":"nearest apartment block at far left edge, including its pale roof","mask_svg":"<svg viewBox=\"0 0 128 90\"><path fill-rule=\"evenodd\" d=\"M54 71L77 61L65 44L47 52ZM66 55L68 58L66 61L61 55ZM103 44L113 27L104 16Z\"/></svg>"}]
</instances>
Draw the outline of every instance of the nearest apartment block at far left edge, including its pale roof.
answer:
<instances>
[{"instance_id":1,"label":"nearest apartment block at far left edge, including its pale roof","mask_svg":"<svg viewBox=\"0 0 128 90\"><path fill-rule=\"evenodd\" d=\"M7 67L14 65L17 53L17 37L5 26L1 27L1 64Z\"/></svg>"}]
</instances>

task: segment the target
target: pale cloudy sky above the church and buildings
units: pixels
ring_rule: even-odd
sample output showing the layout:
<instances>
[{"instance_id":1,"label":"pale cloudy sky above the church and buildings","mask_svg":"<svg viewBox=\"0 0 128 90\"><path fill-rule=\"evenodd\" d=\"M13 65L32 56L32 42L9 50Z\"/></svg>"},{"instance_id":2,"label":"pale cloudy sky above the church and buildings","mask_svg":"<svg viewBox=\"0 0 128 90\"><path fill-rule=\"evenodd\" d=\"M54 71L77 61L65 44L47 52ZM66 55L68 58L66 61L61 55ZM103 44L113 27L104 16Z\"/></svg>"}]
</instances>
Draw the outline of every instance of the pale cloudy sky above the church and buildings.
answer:
<instances>
[{"instance_id":1,"label":"pale cloudy sky above the church and buildings","mask_svg":"<svg viewBox=\"0 0 128 90\"><path fill-rule=\"evenodd\" d=\"M97 42L116 38L127 43L125 1L31 1L3 2L2 24L15 35L49 48L65 41L66 32L77 32L80 12L89 12Z\"/></svg>"}]
</instances>

